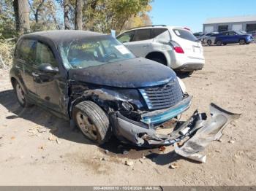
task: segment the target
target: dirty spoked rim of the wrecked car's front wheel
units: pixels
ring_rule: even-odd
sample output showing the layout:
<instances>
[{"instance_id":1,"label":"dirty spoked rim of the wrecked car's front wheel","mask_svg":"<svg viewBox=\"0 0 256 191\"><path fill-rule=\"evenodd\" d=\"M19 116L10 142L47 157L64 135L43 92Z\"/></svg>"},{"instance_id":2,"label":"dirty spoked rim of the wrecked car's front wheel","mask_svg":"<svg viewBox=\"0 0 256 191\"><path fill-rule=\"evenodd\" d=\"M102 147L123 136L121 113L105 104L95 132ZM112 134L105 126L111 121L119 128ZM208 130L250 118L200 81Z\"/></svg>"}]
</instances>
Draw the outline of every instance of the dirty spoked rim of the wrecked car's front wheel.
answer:
<instances>
[{"instance_id":1,"label":"dirty spoked rim of the wrecked car's front wheel","mask_svg":"<svg viewBox=\"0 0 256 191\"><path fill-rule=\"evenodd\" d=\"M76 120L78 122L78 126L82 132L89 137L89 139L96 141L98 137L97 128L94 123L90 120L90 118L83 114L82 112L78 112L76 114Z\"/></svg>"}]
</instances>

